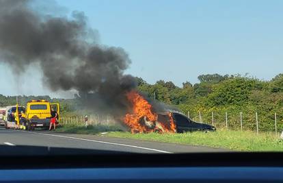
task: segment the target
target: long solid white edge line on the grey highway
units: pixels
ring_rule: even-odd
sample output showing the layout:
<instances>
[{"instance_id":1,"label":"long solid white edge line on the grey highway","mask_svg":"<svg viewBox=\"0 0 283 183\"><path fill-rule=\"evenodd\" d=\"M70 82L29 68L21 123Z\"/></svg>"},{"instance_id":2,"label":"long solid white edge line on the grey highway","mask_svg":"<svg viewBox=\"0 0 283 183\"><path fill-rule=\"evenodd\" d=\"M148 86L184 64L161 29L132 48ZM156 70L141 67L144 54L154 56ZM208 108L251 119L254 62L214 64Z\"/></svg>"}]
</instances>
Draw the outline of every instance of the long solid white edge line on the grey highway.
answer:
<instances>
[{"instance_id":1,"label":"long solid white edge line on the grey highway","mask_svg":"<svg viewBox=\"0 0 283 183\"><path fill-rule=\"evenodd\" d=\"M27 132L27 131L19 131L19 132ZM166 154L173 154L170 151L162 151L159 149L152 149L152 148L148 148L148 147L140 147L137 145L126 145L126 144L120 144L120 143L109 143L109 142L105 142L105 141L95 141L95 140L90 140L87 138L77 138L77 137L73 137L73 136L62 136L62 135L55 135L55 134L44 134L44 133L38 133L38 132L27 132L27 133L31 133L31 134L41 134L41 135L46 135L46 136L57 136L57 137L62 137L62 138L71 138L71 139L76 139L76 140L81 140L81 141L90 141L90 142L94 142L94 143L103 143L103 144L110 144L110 145L120 145L120 146L124 146L124 147L133 147L133 148L137 148L137 149L146 149L149 151L157 151L157 152L161 152L161 153L166 153Z\"/></svg>"}]
</instances>

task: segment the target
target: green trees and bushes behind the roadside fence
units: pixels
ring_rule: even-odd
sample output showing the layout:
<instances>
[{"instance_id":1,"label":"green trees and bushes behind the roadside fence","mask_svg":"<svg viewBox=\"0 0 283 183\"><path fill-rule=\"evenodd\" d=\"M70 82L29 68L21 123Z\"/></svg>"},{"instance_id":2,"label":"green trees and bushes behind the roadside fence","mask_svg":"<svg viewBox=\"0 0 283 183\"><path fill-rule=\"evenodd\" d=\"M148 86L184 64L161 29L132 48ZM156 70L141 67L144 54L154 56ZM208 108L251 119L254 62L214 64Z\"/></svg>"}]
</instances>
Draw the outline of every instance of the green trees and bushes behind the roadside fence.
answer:
<instances>
[{"instance_id":1,"label":"green trees and bushes behind the roadside fence","mask_svg":"<svg viewBox=\"0 0 283 183\"><path fill-rule=\"evenodd\" d=\"M137 88L149 98L175 106L184 114L198 120L211 123L211 112L214 112L215 125L224 124L228 112L230 128L239 129L239 112L243 112L243 127L255 129L254 113L258 112L260 129L273 130L274 113L278 115L278 129L283 125L283 74L276 75L270 81L258 80L255 77L242 75L199 75L199 82L184 82L176 86L173 82L157 81L148 84L141 77L136 77ZM78 97L75 99L51 99L49 96L19 96L18 103L25 105L31 99L45 99L61 104L62 114L74 114L80 109ZM15 96L0 95L0 106L16 104Z\"/></svg>"}]
</instances>

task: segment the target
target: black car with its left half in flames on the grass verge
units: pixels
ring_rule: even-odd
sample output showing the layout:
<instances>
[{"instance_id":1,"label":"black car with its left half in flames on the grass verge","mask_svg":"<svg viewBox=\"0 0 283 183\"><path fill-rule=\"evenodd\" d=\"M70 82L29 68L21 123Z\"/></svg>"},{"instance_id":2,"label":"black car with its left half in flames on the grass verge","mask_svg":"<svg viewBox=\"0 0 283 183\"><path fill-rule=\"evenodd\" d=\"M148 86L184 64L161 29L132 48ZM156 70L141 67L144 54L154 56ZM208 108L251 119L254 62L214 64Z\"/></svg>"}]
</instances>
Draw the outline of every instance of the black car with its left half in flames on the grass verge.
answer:
<instances>
[{"instance_id":1,"label":"black car with its left half in flames on the grass verge","mask_svg":"<svg viewBox=\"0 0 283 183\"><path fill-rule=\"evenodd\" d=\"M123 121L131 128L132 133L183 133L216 130L212 125L191 121L178 112L154 112L152 105L136 91L128 93L127 98L133 106Z\"/></svg>"}]
</instances>

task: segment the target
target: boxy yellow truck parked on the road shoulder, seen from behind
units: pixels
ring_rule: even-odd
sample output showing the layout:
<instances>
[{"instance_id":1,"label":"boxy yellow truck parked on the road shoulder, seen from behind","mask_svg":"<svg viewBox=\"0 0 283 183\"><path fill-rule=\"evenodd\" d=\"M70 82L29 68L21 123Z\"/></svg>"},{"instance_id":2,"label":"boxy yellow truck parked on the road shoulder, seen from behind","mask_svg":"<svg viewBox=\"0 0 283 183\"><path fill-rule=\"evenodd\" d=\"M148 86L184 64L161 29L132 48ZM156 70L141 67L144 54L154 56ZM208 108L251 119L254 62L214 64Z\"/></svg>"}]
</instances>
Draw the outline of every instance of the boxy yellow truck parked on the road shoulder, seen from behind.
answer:
<instances>
[{"instance_id":1,"label":"boxy yellow truck parked on the road shoulder, seen from behind","mask_svg":"<svg viewBox=\"0 0 283 183\"><path fill-rule=\"evenodd\" d=\"M54 108L59 115L59 103L50 103L46 100L32 100L27 102L27 110L25 113L27 118L26 129L34 130L35 127L49 127L51 108Z\"/></svg>"}]
</instances>

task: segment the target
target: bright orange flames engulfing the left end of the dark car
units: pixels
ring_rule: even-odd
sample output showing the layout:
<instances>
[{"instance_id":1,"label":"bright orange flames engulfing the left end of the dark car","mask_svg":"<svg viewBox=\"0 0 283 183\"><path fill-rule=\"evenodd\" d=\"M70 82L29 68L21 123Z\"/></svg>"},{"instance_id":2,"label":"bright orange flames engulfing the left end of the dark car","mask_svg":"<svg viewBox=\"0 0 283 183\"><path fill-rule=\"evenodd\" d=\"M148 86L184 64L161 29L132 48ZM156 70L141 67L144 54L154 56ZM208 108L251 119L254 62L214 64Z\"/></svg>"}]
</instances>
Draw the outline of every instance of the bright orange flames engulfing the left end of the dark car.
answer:
<instances>
[{"instance_id":1,"label":"bright orange flames engulfing the left end of the dark car","mask_svg":"<svg viewBox=\"0 0 283 183\"><path fill-rule=\"evenodd\" d=\"M131 128L132 133L140 132L176 132L176 125L168 113L170 125L157 121L158 115L152 112L152 106L142 95L135 90L126 94L127 99L133 105L133 113L128 113L124 117L124 123ZM142 121L144 120L144 121Z\"/></svg>"}]
</instances>

